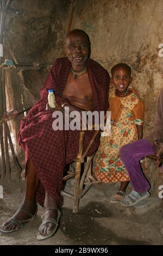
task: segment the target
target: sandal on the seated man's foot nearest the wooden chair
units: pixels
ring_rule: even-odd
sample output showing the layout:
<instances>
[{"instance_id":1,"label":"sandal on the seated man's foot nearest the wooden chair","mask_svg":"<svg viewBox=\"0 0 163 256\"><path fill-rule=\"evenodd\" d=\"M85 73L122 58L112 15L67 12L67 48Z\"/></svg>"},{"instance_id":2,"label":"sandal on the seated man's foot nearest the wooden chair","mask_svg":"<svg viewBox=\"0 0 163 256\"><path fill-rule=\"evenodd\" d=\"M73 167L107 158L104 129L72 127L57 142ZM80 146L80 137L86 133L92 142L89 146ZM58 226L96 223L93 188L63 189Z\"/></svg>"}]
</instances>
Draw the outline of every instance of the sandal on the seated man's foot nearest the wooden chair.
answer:
<instances>
[{"instance_id":1,"label":"sandal on the seated man's foot nearest the wooden chair","mask_svg":"<svg viewBox=\"0 0 163 256\"><path fill-rule=\"evenodd\" d=\"M48 210L57 210L58 211L57 220L55 220L54 218L49 218L46 221L43 221L44 214ZM48 209L46 209L44 211L44 214L41 217L42 218L42 223L41 223L41 225L39 227L39 233L37 234L37 240L45 240L45 239L48 239L49 237L52 237L53 235L55 235L55 233L57 233L57 230L58 230L58 227L59 227L59 221L60 221L61 212L60 212L60 210L58 208L48 208ZM54 227L52 233L47 235L47 236L40 235L40 230L43 227L43 225L45 225L46 223L49 223L49 222L52 222L52 223L55 224L55 227Z\"/></svg>"}]
</instances>

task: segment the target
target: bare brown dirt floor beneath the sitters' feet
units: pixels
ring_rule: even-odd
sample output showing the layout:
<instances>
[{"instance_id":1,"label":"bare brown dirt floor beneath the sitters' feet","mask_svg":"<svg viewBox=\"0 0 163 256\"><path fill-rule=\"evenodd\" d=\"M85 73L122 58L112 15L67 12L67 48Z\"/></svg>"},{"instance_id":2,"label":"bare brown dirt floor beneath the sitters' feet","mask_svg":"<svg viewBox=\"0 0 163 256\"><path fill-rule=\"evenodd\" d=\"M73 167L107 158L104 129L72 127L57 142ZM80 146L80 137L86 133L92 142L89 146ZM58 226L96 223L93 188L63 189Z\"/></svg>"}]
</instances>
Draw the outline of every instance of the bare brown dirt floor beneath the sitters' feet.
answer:
<instances>
[{"instance_id":1,"label":"bare brown dirt floor beneath the sitters' feet","mask_svg":"<svg viewBox=\"0 0 163 256\"><path fill-rule=\"evenodd\" d=\"M65 190L73 191L71 183L71 180L67 182ZM0 199L0 225L14 214L22 201L24 183L15 187L12 186L12 192L11 188L4 188L4 199ZM117 190L118 184L92 186L80 200L78 214L72 213L72 200L64 198L60 228L55 236L45 241L36 240L43 213L39 207L36 220L25 228L0 234L0 245L163 245L161 199L151 196L125 208L110 203Z\"/></svg>"}]
</instances>

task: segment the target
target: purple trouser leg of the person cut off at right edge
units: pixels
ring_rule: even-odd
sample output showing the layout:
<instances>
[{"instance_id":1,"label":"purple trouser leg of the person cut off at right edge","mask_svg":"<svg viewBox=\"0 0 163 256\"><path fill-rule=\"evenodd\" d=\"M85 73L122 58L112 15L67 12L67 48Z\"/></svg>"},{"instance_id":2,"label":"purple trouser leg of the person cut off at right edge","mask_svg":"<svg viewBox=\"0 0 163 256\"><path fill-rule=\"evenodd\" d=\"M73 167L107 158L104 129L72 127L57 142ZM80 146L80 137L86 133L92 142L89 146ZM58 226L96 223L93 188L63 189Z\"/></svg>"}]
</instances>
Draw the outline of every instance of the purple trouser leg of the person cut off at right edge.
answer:
<instances>
[{"instance_id":1,"label":"purple trouser leg of the person cut off at right edge","mask_svg":"<svg viewBox=\"0 0 163 256\"><path fill-rule=\"evenodd\" d=\"M124 145L120 149L120 157L127 168L131 185L139 193L144 193L150 188L149 182L142 173L139 162L147 155L155 155L153 145L148 139L140 139L139 141Z\"/></svg>"}]
</instances>

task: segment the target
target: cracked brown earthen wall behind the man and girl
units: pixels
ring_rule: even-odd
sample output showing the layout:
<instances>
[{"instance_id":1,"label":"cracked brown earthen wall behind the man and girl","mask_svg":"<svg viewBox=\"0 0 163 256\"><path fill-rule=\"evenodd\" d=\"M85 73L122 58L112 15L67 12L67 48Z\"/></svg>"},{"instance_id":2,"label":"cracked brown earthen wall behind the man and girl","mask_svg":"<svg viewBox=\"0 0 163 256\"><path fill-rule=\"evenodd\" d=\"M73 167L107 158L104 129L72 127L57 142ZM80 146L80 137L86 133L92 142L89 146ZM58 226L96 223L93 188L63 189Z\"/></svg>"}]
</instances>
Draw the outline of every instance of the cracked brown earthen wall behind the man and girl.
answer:
<instances>
[{"instance_id":1,"label":"cracked brown earthen wall behind the man and girl","mask_svg":"<svg viewBox=\"0 0 163 256\"><path fill-rule=\"evenodd\" d=\"M162 0L15 0L6 20L5 58L35 65L61 57L73 2L77 4L72 29L89 34L91 57L109 73L118 62L131 66L133 87L145 102L144 130L149 133L163 78L163 57L158 56L158 46L163 43ZM8 108L21 110L21 95L25 108L39 100L39 90L50 68L45 64L41 69L6 71ZM11 122L15 136L21 118ZM148 166L149 180L157 187L162 179L160 169L154 168L150 160Z\"/></svg>"}]
</instances>

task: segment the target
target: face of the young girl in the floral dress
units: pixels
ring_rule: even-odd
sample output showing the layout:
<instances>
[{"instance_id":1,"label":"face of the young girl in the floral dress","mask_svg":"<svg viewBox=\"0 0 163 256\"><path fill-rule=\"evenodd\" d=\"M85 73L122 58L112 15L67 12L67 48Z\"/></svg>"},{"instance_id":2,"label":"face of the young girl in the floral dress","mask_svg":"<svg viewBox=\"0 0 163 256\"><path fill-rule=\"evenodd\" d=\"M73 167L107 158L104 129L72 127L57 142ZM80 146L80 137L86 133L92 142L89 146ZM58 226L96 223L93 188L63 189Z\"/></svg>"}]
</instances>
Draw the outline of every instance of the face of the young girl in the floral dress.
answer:
<instances>
[{"instance_id":1,"label":"face of the young girl in the floral dress","mask_svg":"<svg viewBox=\"0 0 163 256\"><path fill-rule=\"evenodd\" d=\"M127 88L133 78L130 76L129 70L126 68L117 68L112 74L112 80L120 94L127 92Z\"/></svg>"}]
</instances>

